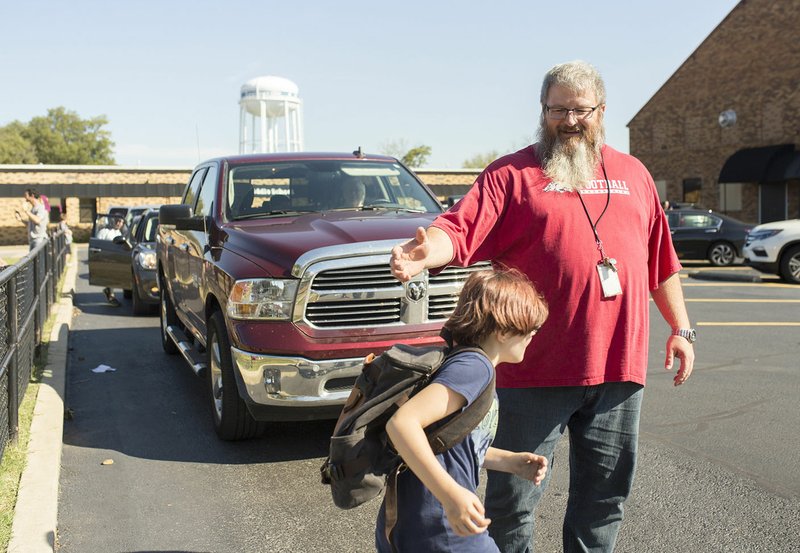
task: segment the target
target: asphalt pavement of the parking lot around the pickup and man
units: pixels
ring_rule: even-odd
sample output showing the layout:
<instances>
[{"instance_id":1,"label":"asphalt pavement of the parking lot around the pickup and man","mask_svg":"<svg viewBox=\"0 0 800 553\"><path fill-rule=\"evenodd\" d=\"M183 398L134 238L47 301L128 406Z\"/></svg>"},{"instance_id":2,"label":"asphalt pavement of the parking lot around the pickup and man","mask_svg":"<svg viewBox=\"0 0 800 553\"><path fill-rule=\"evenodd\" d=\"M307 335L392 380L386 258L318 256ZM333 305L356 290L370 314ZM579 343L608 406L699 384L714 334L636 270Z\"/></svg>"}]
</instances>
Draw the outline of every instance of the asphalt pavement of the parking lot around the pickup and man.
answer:
<instances>
[{"instance_id":1,"label":"asphalt pavement of the parking lot around the pickup and man","mask_svg":"<svg viewBox=\"0 0 800 553\"><path fill-rule=\"evenodd\" d=\"M377 503L333 507L319 484L332 423L273 425L220 442L204 383L160 346L156 317L106 305L81 261L70 337L58 550L370 551ZM800 287L690 278L692 379L663 369L652 307L634 492L619 552L798 551ZM736 277L739 275L739 277ZM113 372L93 373L106 364ZM560 551L566 443L537 512L537 551ZM113 464L103 464L111 460ZM562 461L564 460L564 461Z\"/></svg>"}]
</instances>

